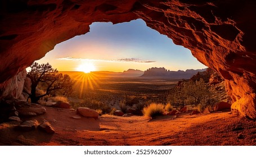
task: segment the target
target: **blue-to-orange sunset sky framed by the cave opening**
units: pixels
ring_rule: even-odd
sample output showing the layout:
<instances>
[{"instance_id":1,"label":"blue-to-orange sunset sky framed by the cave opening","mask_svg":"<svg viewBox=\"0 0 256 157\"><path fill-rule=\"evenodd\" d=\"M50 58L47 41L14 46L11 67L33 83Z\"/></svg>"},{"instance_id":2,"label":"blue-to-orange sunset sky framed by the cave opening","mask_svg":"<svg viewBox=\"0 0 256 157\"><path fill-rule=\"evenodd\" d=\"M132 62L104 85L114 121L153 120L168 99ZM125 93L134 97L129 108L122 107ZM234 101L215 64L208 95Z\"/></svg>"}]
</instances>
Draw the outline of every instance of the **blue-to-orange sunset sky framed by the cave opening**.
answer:
<instances>
[{"instance_id":1,"label":"blue-to-orange sunset sky framed by the cave opening","mask_svg":"<svg viewBox=\"0 0 256 157\"><path fill-rule=\"evenodd\" d=\"M143 20L113 25L95 22L90 32L57 44L39 63L49 62L59 71L75 71L92 63L97 71L124 71L129 68L168 70L205 68L190 50L173 44L166 35L147 27Z\"/></svg>"}]
</instances>

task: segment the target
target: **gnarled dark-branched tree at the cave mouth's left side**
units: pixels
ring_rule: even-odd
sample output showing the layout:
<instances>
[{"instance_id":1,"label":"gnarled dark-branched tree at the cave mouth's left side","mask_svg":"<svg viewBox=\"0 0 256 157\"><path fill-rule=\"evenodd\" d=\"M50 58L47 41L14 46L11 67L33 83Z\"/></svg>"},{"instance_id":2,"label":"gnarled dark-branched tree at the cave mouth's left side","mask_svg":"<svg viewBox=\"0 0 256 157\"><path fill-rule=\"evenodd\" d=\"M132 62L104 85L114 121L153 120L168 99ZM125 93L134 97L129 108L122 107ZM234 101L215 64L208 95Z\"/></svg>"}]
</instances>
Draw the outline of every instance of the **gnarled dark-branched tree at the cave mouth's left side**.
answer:
<instances>
[{"instance_id":1,"label":"gnarled dark-branched tree at the cave mouth's left side","mask_svg":"<svg viewBox=\"0 0 256 157\"><path fill-rule=\"evenodd\" d=\"M32 103L37 103L40 98L46 95L56 95L59 92L61 95L68 95L72 91L72 81L69 75L62 75L57 69L47 64L38 64L34 62L30 66L28 77L31 79L31 93L29 98ZM37 89L41 89L44 93L37 93Z\"/></svg>"}]
</instances>

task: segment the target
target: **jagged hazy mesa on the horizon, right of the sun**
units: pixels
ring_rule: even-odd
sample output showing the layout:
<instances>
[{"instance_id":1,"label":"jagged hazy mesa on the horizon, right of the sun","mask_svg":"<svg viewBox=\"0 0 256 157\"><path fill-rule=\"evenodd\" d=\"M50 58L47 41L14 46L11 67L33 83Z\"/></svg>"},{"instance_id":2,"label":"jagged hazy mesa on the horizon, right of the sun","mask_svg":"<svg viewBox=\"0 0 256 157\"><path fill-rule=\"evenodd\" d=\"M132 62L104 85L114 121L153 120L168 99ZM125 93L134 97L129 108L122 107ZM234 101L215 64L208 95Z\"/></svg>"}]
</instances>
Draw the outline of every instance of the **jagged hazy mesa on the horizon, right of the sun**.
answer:
<instances>
[{"instance_id":1,"label":"jagged hazy mesa on the horizon, right of the sun","mask_svg":"<svg viewBox=\"0 0 256 157\"><path fill-rule=\"evenodd\" d=\"M178 70L178 71L170 71L166 70L164 67L157 68L149 68L146 70L141 77L168 77L169 79L190 79L197 72L206 71L206 68L201 70Z\"/></svg>"}]
</instances>

